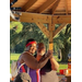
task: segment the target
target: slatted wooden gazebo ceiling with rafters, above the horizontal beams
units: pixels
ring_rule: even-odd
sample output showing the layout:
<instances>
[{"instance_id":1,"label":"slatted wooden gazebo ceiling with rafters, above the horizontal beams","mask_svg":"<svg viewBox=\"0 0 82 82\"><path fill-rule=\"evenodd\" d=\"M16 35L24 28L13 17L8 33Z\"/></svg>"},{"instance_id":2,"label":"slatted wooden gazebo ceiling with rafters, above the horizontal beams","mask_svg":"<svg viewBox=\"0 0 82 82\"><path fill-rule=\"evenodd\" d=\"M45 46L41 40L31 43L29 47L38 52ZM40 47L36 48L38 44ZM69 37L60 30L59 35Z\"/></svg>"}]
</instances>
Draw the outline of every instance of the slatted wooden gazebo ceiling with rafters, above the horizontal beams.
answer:
<instances>
[{"instance_id":1,"label":"slatted wooden gazebo ceiling with rafters, above the horizontal beams","mask_svg":"<svg viewBox=\"0 0 82 82\"><path fill-rule=\"evenodd\" d=\"M10 2L13 0L10 0ZM21 7L22 12L70 15L71 0L17 0L12 7Z\"/></svg>"}]
</instances>

